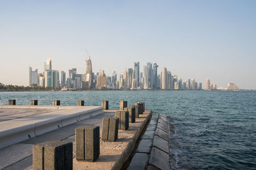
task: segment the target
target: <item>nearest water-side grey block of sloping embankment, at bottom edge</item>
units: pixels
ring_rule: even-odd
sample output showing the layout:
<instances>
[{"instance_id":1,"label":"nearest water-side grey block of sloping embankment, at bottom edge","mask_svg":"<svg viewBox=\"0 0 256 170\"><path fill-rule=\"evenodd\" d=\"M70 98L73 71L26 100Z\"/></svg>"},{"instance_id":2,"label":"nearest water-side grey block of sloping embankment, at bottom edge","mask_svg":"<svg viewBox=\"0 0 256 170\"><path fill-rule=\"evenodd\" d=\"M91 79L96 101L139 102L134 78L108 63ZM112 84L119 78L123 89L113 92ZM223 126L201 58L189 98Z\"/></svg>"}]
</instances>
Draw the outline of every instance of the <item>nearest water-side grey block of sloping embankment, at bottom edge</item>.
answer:
<instances>
[{"instance_id":1,"label":"nearest water-side grey block of sloping embankment, at bottom edge","mask_svg":"<svg viewBox=\"0 0 256 170\"><path fill-rule=\"evenodd\" d=\"M170 169L169 154L153 146L148 164L159 169Z\"/></svg>"}]
</instances>

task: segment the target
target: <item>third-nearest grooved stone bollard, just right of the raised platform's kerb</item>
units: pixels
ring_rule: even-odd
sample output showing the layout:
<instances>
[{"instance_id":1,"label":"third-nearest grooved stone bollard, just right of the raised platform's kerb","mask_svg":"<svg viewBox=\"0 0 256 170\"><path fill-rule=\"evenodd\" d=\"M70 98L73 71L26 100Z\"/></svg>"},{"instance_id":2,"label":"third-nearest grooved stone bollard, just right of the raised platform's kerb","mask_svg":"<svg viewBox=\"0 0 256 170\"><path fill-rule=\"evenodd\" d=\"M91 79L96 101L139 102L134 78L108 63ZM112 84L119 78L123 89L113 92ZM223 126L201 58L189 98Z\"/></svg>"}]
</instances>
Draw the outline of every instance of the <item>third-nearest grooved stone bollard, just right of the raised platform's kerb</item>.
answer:
<instances>
[{"instance_id":1,"label":"third-nearest grooved stone bollard, just right of the raised platform's kerb","mask_svg":"<svg viewBox=\"0 0 256 170\"><path fill-rule=\"evenodd\" d=\"M102 118L102 141L116 141L118 138L118 124L119 118Z\"/></svg>"}]
</instances>

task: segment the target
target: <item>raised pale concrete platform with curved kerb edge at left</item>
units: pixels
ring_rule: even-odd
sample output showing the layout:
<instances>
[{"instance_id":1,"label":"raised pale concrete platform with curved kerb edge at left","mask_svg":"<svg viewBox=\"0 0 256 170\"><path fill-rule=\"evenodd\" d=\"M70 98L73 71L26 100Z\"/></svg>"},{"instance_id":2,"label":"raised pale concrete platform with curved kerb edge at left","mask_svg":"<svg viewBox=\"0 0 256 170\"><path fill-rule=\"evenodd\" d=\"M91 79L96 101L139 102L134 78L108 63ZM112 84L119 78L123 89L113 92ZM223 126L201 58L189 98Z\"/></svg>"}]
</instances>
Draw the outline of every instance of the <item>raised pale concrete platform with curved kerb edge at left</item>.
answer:
<instances>
[{"instance_id":1,"label":"raised pale concrete platform with curved kerb edge at left","mask_svg":"<svg viewBox=\"0 0 256 170\"><path fill-rule=\"evenodd\" d=\"M100 113L99 106L0 106L0 149Z\"/></svg>"}]
</instances>

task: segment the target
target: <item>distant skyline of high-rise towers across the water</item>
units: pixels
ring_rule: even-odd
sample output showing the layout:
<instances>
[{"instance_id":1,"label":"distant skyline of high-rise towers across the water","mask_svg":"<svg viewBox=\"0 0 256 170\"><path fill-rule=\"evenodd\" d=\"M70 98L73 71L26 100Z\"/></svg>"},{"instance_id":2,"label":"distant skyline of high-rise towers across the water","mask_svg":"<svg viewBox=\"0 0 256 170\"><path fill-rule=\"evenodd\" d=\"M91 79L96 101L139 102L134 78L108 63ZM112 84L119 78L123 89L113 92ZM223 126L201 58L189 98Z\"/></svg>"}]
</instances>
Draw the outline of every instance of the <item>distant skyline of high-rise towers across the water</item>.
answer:
<instances>
[{"instance_id":1,"label":"distant skyline of high-rise towers across the water","mask_svg":"<svg viewBox=\"0 0 256 170\"><path fill-rule=\"evenodd\" d=\"M92 72L92 60L88 57L86 60L85 74L79 74L76 68L68 69L68 76L65 71L56 71L52 69L51 58L44 62L44 72L38 73L38 69L33 71L29 67L29 86L61 88L68 89L162 89L162 90L202 90L201 82L195 81L194 78L182 80L177 75L173 75L170 70L167 71L163 67L161 74L157 74L157 63L147 62L147 66L143 66L143 72L140 72L140 62L134 62L134 69L125 67L124 73L120 73L118 78L116 71L112 76L100 72ZM61 74L60 74L61 73ZM138 76L140 74L140 77ZM137 81L138 80L138 81ZM239 90L234 83L228 83L228 88L220 88L221 90ZM207 78L205 90L218 90L216 84L210 83Z\"/></svg>"}]
</instances>

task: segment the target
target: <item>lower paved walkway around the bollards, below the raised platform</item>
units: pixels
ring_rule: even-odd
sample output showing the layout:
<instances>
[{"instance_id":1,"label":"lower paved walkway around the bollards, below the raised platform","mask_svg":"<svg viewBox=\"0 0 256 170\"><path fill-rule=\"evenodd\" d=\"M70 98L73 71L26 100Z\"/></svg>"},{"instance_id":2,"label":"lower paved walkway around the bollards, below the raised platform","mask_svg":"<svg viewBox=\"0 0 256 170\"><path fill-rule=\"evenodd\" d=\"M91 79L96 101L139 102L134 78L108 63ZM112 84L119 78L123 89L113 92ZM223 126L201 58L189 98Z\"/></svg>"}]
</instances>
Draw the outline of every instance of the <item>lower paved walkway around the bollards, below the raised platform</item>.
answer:
<instances>
[{"instance_id":1,"label":"lower paved walkway around the bollards, below the raised platform","mask_svg":"<svg viewBox=\"0 0 256 170\"><path fill-rule=\"evenodd\" d=\"M145 111L143 115L140 115L140 118L136 118L134 124L129 124L127 131L118 131L116 142L100 140L100 157L96 162L78 162L76 160L75 129L81 125L99 125L101 138L102 118L115 116L115 110L104 110L104 113L95 117L61 127L0 150L0 169L32 169L32 146L49 140L73 143L73 169L120 169L132 152L151 114L152 111Z\"/></svg>"}]
</instances>

